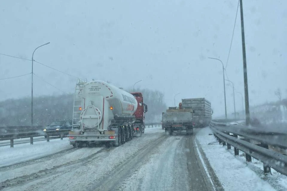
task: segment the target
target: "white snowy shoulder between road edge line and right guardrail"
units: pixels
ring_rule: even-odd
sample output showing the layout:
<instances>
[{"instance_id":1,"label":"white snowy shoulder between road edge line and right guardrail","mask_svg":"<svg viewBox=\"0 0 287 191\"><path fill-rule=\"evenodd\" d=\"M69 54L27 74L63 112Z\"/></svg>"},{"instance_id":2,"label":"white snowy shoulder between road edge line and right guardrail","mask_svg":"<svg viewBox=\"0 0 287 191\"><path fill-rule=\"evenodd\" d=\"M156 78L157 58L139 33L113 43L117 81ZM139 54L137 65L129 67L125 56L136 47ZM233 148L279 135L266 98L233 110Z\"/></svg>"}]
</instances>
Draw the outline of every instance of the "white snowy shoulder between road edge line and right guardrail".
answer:
<instances>
[{"instance_id":1,"label":"white snowy shoulder between road edge line and right guardrail","mask_svg":"<svg viewBox=\"0 0 287 191\"><path fill-rule=\"evenodd\" d=\"M234 156L233 150L222 147L216 138L209 134L212 134L212 131L205 127L196 134L196 139L225 190L287 190L286 176L275 171L272 171L273 175L265 176L261 162L254 158L251 163L245 162L243 153Z\"/></svg>"}]
</instances>

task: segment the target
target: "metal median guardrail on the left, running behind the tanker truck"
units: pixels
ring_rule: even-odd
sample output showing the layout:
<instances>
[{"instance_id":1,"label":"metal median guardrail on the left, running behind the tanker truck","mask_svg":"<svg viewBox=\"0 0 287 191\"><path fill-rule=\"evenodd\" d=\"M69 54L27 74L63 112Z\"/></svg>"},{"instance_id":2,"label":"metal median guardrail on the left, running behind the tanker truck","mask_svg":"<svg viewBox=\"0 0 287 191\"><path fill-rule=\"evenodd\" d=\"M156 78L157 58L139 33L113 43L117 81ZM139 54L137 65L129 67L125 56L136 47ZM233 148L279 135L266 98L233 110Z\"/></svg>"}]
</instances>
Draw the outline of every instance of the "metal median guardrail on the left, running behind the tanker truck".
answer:
<instances>
[{"instance_id":1,"label":"metal median guardrail on the left, running behind the tanker truck","mask_svg":"<svg viewBox=\"0 0 287 191\"><path fill-rule=\"evenodd\" d=\"M148 128L156 127L161 123L146 123ZM61 140L65 134L70 130L47 130L43 131L45 126L12 126L12 127L0 127L0 141L10 140L10 147L14 147L14 139L30 138L30 144L33 144L33 137L46 136L47 142L50 141L50 136L60 136Z\"/></svg>"}]
</instances>

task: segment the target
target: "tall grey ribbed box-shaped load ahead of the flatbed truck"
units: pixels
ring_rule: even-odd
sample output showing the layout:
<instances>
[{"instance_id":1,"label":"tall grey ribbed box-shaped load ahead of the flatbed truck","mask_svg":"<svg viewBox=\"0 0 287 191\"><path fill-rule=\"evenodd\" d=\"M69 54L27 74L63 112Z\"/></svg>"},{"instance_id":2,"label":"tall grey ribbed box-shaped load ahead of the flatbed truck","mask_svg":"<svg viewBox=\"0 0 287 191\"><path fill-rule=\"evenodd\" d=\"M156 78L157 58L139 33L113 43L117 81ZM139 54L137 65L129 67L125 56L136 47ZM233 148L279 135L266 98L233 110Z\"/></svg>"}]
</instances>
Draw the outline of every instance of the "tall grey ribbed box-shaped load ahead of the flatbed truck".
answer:
<instances>
[{"instance_id":1,"label":"tall grey ribbed box-shaped load ahead of the flatbed truck","mask_svg":"<svg viewBox=\"0 0 287 191\"><path fill-rule=\"evenodd\" d=\"M213 110L211 109L211 103L205 98L190 98L181 99L182 107L190 108L193 113L194 127L202 128L209 125L211 121L211 115Z\"/></svg>"}]
</instances>

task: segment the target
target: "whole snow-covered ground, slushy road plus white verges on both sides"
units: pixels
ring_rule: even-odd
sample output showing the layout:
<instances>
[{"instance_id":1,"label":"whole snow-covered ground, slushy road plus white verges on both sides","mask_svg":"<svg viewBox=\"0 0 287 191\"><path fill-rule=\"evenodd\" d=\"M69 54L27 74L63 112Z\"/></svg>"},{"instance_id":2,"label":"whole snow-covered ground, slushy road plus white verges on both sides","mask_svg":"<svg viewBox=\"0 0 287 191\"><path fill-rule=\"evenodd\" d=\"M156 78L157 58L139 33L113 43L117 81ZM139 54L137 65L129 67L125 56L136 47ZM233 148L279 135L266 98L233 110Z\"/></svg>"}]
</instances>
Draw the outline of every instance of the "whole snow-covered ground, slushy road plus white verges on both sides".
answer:
<instances>
[{"instance_id":1,"label":"whole snow-covered ground, slushy road plus white verges on both sides","mask_svg":"<svg viewBox=\"0 0 287 191\"><path fill-rule=\"evenodd\" d=\"M247 165L211 133L207 127L192 136L170 136L149 128L143 136L111 148L74 149L67 139L22 144L31 156L17 156L21 148L6 148L7 157L0 155L0 190L286 190L280 175L262 176L258 161Z\"/></svg>"}]
</instances>

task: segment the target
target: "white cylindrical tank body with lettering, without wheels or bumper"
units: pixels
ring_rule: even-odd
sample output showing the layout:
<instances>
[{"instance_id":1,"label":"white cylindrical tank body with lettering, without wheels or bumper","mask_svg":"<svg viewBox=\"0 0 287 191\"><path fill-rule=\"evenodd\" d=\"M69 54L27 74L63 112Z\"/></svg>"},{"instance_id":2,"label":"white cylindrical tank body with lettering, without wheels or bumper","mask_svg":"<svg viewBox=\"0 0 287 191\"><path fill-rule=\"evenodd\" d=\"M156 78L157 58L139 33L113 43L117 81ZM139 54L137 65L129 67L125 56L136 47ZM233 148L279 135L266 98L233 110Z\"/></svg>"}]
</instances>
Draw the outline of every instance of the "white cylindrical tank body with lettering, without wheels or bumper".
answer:
<instances>
[{"instance_id":1,"label":"white cylindrical tank body with lettering, without wheels or bumper","mask_svg":"<svg viewBox=\"0 0 287 191\"><path fill-rule=\"evenodd\" d=\"M107 130L115 115L133 115L138 102L132 94L97 80L84 85L82 106L82 129Z\"/></svg>"}]
</instances>

